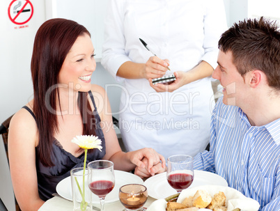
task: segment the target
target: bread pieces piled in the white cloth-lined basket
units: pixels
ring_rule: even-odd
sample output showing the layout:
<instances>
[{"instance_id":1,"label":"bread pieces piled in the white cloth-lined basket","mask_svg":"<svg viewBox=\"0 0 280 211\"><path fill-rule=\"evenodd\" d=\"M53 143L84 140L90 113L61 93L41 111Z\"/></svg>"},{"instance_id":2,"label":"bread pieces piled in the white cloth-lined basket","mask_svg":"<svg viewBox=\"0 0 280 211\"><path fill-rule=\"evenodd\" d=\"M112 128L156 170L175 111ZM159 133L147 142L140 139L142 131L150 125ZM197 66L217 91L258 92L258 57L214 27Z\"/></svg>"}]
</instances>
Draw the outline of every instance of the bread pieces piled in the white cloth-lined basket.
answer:
<instances>
[{"instance_id":1,"label":"bread pieces piled in the white cloth-lined basket","mask_svg":"<svg viewBox=\"0 0 280 211\"><path fill-rule=\"evenodd\" d=\"M182 203L168 202L166 211L199 211L201 208L213 211L226 211L226 196L224 192L219 192L212 198L207 191L199 189L194 196L185 198Z\"/></svg>"}]
</instances>

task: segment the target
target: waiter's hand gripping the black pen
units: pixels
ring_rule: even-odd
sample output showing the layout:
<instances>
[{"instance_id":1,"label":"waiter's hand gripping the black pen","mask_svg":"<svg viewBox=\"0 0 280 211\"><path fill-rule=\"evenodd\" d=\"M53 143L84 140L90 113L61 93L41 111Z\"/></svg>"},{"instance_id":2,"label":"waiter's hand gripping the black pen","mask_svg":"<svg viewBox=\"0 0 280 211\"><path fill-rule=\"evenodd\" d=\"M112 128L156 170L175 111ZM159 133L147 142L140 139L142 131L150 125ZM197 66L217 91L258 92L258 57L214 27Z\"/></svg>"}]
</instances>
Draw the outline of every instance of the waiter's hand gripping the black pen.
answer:
<instances>
[{"instance_id":1,"label":"waiter's hand gripping the black pen","mask_svg":"<svg viewBox=\"0 0 280 211\"><path fill-rule=\"evenodd\" d=\"M154 79L162 77L168 70L169 61L167 59L162 60L157 56L151 56L146 62L145 70L143 70L143 78Z\"/></svg>"}]
</instances>

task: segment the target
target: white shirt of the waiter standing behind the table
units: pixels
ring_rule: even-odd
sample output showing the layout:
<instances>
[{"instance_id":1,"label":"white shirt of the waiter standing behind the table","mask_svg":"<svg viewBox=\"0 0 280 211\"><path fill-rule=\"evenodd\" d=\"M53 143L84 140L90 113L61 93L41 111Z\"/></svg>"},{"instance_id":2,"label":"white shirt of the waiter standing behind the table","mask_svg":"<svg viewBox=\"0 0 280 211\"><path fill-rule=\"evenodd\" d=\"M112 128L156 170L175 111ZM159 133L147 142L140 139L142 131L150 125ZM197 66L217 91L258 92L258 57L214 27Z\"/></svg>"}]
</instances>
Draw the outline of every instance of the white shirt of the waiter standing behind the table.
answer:
<instances>
[{"instance_id":1,"label":"white shirt of the waiter standing behind the table","mask_svg":"<svg viewBox=\"0 0 280 211\"><path fill-rule=\"evenodd\" d=\"M201 60L217 67L217 42L226 30L222 0L110 0L108 4L101 63L113 77L125 61L146 63L153 56L139 38L157 56L169 59L172 72L190 70ZM146 79L125 79L125 84L153 91Z\"/></svg>"}]
</instances>

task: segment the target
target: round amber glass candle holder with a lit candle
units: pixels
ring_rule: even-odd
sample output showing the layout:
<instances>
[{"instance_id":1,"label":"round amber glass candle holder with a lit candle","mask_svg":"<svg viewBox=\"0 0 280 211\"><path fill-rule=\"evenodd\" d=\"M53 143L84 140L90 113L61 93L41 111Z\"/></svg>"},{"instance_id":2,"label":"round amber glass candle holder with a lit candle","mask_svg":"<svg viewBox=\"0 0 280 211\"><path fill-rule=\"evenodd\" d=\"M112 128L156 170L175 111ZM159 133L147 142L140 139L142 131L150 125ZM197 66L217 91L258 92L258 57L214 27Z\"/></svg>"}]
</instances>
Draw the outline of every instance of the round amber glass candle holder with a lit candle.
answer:
<instances>
[{"instance_id":1,"label":"round amber glass candle holder with a lit candle","mask_svg":"<svg viewBox=\"0 0 280 211\"><path fill-rule=\"evenodd\" d=\"M146 210L143 205L146 203L148 198L148 191L144 185L129 184L120 187L118 194L120 203L123 204L125 210Z\"/></svg>"}]
</instances>

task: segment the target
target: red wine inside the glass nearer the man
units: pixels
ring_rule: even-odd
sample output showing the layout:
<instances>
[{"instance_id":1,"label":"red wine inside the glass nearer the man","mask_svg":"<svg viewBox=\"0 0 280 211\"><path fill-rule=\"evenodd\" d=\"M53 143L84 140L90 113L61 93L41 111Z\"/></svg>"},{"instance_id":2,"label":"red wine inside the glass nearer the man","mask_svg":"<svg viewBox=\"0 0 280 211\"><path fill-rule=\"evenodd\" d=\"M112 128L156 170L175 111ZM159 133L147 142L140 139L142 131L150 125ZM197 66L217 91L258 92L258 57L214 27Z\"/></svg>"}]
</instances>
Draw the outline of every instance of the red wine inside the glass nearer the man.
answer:
<instances>
[{"instance_id":1,"label":"red wine inside the glass nearer the man","mask_svg":"<svg viewBox=\"0 0 280 211\"><path fill-rule=\"evenodd\" d=\"M188 173L174 173L168 176L167 181L169 185L176 190L186 189L192 185L194 177Z\"/></svg>"}]
</instances>

